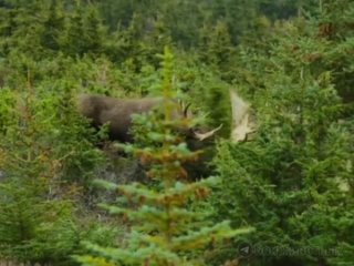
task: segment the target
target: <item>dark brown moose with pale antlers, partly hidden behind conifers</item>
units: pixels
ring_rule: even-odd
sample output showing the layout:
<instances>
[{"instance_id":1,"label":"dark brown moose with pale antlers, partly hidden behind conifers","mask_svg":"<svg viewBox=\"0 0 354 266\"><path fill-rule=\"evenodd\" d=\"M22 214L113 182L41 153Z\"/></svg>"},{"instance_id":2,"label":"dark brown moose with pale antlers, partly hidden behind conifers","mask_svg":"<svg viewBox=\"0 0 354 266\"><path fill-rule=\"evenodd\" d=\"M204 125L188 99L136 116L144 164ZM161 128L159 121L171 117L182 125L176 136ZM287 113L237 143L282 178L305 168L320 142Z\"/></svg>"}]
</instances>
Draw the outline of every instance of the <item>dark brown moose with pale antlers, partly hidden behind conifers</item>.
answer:
<instances>
[{"instance_id":1,"label":"dark brown moose with pale antlers, partly hidden behind conifers","mask_svg":"<svg viewBox=\"0 0 354 266\"><path fill-rule=\"evenodd\" d=\"M250 109L235 91L230 91L232 110L232 132L230 139L232 142L243 142L248 134L254 131L253 124L249 121ZM132 143L134 139L131 134L133 115L144 114L157 109L164 103L164 98L142 98L142 99L117 99L95 94L80 94L76 98L77 111L81 115L91 121L94 127L100 127L108 123L108 137L111 141L121 143ZM188 111L190 105L183 106L177 101L173 101L171 119L190 117ZM212 136L221 129L221 125L210 131L200 131L196 127L184 131L187 145L190 150L204 149L198 162L187 163L185 166L189 173L189 178L196 180L209 176L212 166L208 162L212 158L215 149L212 147ZM139 180L144 180L143 177ZM135 178L133 176L132 178Z\"/></svg>"}]
</instances>

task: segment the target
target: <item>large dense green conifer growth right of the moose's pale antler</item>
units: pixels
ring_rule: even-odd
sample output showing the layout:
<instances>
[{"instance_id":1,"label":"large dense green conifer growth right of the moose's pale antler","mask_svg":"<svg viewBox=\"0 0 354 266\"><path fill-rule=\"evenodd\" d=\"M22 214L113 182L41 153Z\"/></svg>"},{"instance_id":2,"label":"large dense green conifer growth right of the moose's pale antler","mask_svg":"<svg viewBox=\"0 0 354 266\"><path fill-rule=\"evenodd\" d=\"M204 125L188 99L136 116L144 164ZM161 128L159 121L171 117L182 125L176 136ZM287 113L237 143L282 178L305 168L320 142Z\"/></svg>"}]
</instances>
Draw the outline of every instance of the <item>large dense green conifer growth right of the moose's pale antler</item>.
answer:
<instances>
[{"instance_id":1,"label":"large dense green conifer growth right of the moose's pale antler","mask_svg":"<svg viewBox=\"0 0 354 266\"><path fill-rule=\"evenodd\" d=\"M278 27L267 52L242 48L239 85L252 93L258 131L251 142L220 144L215 207L233 226L257 228L231 247L248 243L252 265L347 265L353 113L343 104L348 68L340 58L351 41L319 38L304 19Z\"/></svg>"}]
</instances>

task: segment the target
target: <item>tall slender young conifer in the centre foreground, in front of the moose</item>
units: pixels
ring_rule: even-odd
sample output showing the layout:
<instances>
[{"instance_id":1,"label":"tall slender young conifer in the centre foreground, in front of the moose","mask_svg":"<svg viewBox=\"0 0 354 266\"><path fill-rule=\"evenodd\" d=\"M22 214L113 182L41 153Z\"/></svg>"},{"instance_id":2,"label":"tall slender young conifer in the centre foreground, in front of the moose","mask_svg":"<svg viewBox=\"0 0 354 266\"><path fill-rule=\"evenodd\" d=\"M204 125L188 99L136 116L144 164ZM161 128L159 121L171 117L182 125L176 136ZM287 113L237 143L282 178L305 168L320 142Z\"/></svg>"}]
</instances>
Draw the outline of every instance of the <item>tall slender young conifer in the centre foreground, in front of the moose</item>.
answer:
<instances>
[{"instance_id":1,"label":"tall slender young conifer in the centre foreground, in front of the moose","mask_svg":"<svg viewBox=\"0 0 354 266\"><path fill-rule=\"evenodd\" d=\"M126 215L133 226L126 245L102 247L86 243L95 255L76 257L83 265L205 265L201 252L206 245L249 232L232 231L228 222L210 225L206 222L206 213L189 208L191 201L207 197L208 186L216 184L218 178L185 182L187 173L183 163L196 160L200 152L189 151L181 136L176 134L176 129L188 130L192 121L171 120L176 106L170 84L173 58L168 50L163 59L165 103L162 113L137 119L137 124L144 127L138 127L140 134L136 141L145 146L125 145L125 150L148 168L147 176L156 184L100 182L107 188L119 191L123 194L121 202L131 203L129 207L103 206L112 214Z\"/></svg>"}]
</instances>

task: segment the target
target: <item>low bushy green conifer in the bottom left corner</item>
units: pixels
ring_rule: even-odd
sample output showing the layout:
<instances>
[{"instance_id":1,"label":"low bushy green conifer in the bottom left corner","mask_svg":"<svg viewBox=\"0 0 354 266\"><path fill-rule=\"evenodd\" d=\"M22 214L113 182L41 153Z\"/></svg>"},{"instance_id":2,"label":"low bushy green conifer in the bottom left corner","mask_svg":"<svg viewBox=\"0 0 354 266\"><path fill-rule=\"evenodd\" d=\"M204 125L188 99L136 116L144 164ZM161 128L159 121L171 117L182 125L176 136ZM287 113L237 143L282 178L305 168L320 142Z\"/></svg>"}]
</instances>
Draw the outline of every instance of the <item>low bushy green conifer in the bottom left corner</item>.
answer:
<instances>
[{"instance_id":1,"label":"low bushy green conifer in the bottom left corner","mask_svg":"<svg viewBox=\"0 0 354 266\"><path fill-rule=\"evenodd\" d=\"M61 262L77 239L69 201L43 201L45 181L14 177L0 186L0 257L19 262Z\"/></svg>"}]
</instances>

